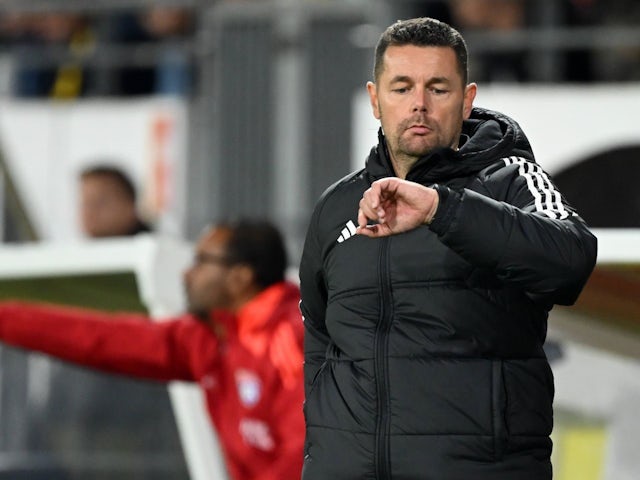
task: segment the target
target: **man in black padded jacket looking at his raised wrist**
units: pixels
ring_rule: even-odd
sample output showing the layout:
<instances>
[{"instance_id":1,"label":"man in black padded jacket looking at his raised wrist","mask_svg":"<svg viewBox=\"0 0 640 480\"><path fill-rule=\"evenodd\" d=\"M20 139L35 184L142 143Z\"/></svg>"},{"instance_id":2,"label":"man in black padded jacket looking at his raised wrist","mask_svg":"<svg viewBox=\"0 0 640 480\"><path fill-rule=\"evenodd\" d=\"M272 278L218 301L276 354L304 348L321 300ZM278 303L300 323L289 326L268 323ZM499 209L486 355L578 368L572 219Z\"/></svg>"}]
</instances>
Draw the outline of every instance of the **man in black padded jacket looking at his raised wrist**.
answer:
<instances>
[{"instance_id":1,"label":"man in black padded jacket looking at his raised wrist","mask_svg":"<svg viewBox=\"0 0 640 480\"><path fill-rule=\"evenodd\" d=\"M548 312L596 240L512 119L473 107L460 34L397 22L379 143L330 187L300 268L303 480L549 480Z\"/></svg>"}]
</instances>

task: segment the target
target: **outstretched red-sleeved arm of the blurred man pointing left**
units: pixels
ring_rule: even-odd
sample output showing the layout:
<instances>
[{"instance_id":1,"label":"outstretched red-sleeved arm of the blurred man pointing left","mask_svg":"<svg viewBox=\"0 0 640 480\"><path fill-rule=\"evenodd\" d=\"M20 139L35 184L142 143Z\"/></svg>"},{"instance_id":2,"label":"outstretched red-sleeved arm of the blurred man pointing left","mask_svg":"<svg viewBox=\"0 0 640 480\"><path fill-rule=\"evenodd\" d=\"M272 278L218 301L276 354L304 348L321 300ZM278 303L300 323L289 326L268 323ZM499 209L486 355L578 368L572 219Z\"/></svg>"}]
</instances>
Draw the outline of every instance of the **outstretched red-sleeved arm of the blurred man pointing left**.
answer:
<instances>
[{"instance_id":1,"label":"outstretched red-sleeved arm of the blurred man pointing left","mask_svg":"<svg viewBox=\"0 0 640 480\"><path fill-rule=\"evenodd\" d=\"M152 322L137 314L0 303L0 340L112 373L152 380L193 380L191 356L216 348L195 320Z\"/></svg>"}]
</instances>

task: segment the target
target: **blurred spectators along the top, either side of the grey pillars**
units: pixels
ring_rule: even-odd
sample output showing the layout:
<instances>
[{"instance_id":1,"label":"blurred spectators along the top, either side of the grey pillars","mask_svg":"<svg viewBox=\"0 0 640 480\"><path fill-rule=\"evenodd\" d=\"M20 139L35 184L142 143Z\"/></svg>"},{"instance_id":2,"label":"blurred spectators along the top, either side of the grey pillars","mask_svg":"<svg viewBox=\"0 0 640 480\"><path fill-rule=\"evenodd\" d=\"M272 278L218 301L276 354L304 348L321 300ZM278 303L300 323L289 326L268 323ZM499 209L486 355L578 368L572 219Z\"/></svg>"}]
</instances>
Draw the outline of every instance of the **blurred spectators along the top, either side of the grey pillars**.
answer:
<instances>
[{"instance_id":1,"label":"blurred spectators along the top, either side of the grey pillars","mask_svg":"<svg viewBox=\"0 0 640 480\"><path fill-rule=\"evenodd\" d=\"M11 73L5 72L3 92L23 98L195 94L205 61L205 17L221 3L274 2L5 1L0 48ZM411 16L441 19L467 36L476 53L475 81L618 82L640 76L640 5L633 0L275 3L364 7L363 20L377 24Z\"/></svg>"}]
</instances>

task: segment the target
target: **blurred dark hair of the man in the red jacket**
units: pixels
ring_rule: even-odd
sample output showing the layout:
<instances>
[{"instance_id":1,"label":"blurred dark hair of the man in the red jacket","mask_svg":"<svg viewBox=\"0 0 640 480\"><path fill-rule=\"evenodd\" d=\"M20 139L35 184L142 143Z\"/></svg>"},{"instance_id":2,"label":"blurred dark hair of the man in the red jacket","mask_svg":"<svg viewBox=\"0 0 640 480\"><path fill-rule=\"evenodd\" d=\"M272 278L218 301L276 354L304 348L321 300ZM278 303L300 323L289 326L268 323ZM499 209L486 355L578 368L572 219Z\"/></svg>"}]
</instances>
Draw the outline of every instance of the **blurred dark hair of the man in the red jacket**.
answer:
<instances>
[{"instance_id":1,"label":"blurred dark hair of the man in the red jacket","mask_svg":"<svg viewBox=\"0 0 640 480\"><path fill-rule=\"evenodd\" d=\"M260 288L284 280L287 252L282 234L273 224L266 220L242 219L218 226L231 232L227 243L229 262L251 267Z\"/></svg>"}]
</instances>

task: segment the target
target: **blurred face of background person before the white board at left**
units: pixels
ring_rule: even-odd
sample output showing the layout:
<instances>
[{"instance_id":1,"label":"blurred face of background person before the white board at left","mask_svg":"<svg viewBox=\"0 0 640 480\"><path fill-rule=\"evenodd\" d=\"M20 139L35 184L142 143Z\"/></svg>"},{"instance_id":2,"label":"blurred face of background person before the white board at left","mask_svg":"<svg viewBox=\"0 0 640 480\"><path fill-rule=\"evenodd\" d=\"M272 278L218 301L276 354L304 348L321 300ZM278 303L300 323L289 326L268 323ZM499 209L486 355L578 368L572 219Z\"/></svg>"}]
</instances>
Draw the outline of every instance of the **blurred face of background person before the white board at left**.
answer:
<instances>
[{"instance_id":1,"label":"blurred face of background person before the white board at left","mask_svg":"<svg viewBox=\"0 0 640 480\"><path fill-rule=\"evenodd\" d=\"M80 183L80 223L85 235L127 235L136 223L136 206L112 178L89 175Z\"/></svg>"}]
</instances>

